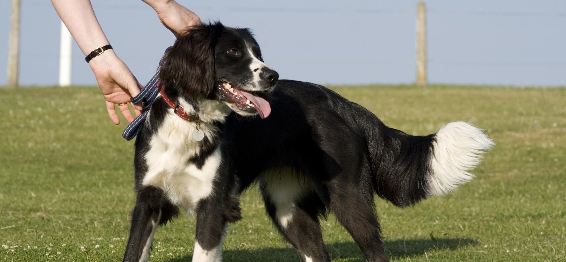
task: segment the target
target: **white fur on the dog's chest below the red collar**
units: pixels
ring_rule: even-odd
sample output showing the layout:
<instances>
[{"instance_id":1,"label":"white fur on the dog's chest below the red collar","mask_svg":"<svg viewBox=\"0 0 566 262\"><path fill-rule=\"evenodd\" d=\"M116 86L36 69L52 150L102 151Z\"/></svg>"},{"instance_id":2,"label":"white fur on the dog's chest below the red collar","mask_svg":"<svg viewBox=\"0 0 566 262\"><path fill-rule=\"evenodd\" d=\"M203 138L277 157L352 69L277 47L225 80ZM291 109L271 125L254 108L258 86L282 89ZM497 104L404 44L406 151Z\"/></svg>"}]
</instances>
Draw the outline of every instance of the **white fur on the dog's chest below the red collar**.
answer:
<instances>
[{"instance_id":1,"label":"white fur on the dog's chest below the red collar","mask_svg":"<svg viewBox=\"0 0 566 262\"><path fill-rule=\"evenodd\" d=\"M203 109L209 114L203 112ZM210 122L224 121L225 111L223 106L201 107L204 114L200 114L203 120L200 130L209 140L218 139L219 131ZM149 150L145 153L148 171L142 182L144 186L161 188L171 203L191 213L199 200L213 193L213 182L222 162L220 147L205 159L200 169L190 161L190 158L201 153L200 144L203 142L192 138L195 128L194 122L187 122L175 115L172 109L169 110L164 122L149 141Z\"/></svg>"}]
</instances>

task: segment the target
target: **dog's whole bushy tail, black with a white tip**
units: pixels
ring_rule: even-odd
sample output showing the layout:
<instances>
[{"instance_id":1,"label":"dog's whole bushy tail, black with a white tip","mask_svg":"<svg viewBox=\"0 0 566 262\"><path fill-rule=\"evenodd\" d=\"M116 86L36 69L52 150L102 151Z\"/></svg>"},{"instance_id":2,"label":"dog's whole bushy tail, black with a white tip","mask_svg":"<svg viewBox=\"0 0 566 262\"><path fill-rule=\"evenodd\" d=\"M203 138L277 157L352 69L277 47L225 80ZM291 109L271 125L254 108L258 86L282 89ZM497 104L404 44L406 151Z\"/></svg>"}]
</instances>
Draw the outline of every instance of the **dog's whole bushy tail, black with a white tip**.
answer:
<instances>
[{"instance_id":1,"label":"dog's whole bushy tail, black with a white tip","mask_svg":"<svg viewBox=\"0 0 566 262\"><path fill-rule=\"evenodd\" d=\"M364 122L358 125L366 131L375 192L398 207L447 194L470 181L474 178L470 170L495 145L469 123L453 122L436 134L412 136L363 110Z\"/></svg>"}]
</instances>

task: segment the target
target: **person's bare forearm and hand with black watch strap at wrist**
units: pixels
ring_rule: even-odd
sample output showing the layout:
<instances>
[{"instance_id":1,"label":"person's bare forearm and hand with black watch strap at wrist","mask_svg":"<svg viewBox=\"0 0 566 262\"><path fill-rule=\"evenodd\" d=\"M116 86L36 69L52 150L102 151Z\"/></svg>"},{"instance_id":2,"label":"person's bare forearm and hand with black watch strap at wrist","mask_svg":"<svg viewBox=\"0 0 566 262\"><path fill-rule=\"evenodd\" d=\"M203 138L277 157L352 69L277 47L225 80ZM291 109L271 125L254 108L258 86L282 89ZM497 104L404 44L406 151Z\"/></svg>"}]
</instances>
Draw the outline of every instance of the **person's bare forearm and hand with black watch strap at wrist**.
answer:
<instances>
[{"instance_id":1,"label":"person's bare forearm and hand with black watch strap at wrist","mask_svg":"<svg viewBox=\"0 0 566 262\"><path fill-rule=\"evenodd\" d=\"M88 55L100 46L109 44L100 24L98 24L89 0L52 0L51 2L84 55ZM141 85L112 49L106 50L103 54L93 58L89 64L106 100L108 115L112 122L119 124L120 120L114 109L114 104L130 101L130 97L138 95ZM119 106L119 109L128 122L134 121L134 116L127 104ZM140 109L141 106L134 106L136 115L141 113Z\"/></svg>"}]
</instances>

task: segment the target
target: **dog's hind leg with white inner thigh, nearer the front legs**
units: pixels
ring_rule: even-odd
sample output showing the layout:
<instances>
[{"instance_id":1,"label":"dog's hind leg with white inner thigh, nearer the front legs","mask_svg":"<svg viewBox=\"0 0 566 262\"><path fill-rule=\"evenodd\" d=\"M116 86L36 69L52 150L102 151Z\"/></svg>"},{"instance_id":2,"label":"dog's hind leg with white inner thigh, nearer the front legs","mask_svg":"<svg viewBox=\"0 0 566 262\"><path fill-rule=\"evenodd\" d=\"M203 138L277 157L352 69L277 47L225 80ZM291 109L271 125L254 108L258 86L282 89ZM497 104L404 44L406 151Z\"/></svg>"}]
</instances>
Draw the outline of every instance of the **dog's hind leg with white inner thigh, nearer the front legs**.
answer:
<instances>
[{"instance_id":1,"label":"dog's hind leg with white inner thigh, nearer the front legs","mask_svg":"<svg viewBox=\"0 0 566 262\"><path fill-rule=\"evenodd\" d=\"M297 249L301 262L329 262L318 219L325 212L324 204L305 188L304 179L291 174L261 179L265 209L281 235Z\"/></svg>"}]
</instances>

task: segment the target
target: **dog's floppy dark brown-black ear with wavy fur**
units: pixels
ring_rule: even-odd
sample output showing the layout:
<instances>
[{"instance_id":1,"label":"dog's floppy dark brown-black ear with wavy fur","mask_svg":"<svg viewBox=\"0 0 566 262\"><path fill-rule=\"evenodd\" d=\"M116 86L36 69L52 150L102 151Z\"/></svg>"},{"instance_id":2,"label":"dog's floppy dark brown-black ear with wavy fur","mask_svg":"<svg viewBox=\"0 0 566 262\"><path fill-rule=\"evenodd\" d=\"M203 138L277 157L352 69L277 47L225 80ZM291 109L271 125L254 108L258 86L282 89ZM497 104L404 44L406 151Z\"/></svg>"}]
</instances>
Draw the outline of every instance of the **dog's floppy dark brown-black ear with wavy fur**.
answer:
<instances>
[{"instance_id":1,"label":"dog's floppy dark brown-black ear with wavy fur","mask_svg":"<svg viewBox=\"0 0 566 262\"><path fill-rule=\"evenodd\" d=\"M159 78L165 90L177 89L180 96L196 100L211 97L215 90L215 45L222 27L198 25L188 28L166 51Z\"/></svg>"}]
</instances>

